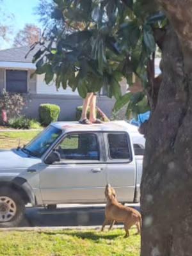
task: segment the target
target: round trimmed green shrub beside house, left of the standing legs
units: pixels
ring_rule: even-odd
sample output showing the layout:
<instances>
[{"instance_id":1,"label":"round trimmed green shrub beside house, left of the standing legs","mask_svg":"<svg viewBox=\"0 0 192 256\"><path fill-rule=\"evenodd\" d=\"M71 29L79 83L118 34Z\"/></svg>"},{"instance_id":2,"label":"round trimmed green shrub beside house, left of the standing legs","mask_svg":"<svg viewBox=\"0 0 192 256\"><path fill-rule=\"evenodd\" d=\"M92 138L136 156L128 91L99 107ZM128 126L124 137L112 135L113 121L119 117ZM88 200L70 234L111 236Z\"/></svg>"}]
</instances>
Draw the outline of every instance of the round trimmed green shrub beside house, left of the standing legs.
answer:
<instances>
[{"instance_id":1,"label":"round trimmed green shrub beside house, left of the standing legs","mask_svg":"<svg viewBox=\"0 0 192 256\"><path fill-rule=\"evenodd\" d=\"M56 122L60 116L60 107L54 104L41 104L39 107L40 122L42 125L49 125Z\"/></svg>"}]
</instances>

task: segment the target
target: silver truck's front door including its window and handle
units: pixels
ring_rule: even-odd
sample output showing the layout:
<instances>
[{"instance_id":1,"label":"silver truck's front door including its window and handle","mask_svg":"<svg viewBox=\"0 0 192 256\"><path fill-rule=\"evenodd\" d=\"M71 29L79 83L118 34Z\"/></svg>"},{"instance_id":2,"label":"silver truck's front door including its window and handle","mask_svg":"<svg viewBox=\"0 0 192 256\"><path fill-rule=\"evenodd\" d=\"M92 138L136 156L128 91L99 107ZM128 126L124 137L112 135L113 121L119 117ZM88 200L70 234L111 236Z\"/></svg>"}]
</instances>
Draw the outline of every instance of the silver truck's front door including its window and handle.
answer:
<instances>
[{"instance_id":1,"label":"silver truck's front door including its window and handle","mask_svg":"<svg viewBox=\"0 0 192 256\"><path fill-rule=\"evenodd\" d=\"M102 134L76 132L66 134L56 150L60 163L40 172L40 189L44 204L70 202L104 202L106 163L100 142Z\"/></svg>"}]
</instances>

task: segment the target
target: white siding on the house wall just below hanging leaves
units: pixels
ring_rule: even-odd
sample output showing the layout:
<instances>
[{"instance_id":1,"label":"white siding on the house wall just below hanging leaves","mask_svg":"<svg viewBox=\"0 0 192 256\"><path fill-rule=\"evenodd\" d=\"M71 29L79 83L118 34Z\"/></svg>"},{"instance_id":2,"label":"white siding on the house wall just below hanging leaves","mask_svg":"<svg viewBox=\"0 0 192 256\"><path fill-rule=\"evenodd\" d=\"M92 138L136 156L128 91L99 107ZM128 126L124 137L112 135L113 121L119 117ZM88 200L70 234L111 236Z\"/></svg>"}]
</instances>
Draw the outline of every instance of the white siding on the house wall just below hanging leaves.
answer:
<instances>
[{"instance_id":1,"label":"white siding on the house wall just below hanging leaves","mask_svg":"<svg viewBox=\"0 0 192 256\"><path fill-rule=\"evenodd\" d=\"M67 87L66 90L59 88L57 91L55 83L52 82L47 85L44 81L44 75L36 76L36 93L37 94L54 94L54 95L78 95L78 92L72 92L70 87Z\"/></svg>"}]
</instances>

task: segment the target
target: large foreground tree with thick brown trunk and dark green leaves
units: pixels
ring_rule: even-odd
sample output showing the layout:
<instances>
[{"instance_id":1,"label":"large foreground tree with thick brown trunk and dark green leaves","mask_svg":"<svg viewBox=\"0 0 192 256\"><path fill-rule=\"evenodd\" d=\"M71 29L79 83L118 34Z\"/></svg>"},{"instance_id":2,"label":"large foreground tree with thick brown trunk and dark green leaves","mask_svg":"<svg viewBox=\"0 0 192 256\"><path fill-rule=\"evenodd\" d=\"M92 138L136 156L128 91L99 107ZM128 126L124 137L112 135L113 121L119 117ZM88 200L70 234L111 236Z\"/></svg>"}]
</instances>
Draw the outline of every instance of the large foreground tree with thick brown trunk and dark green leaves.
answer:
<instances>
[{"instance_id":1,"label":"large foreground tree with thick brown trunk and dark green leaves","mask_svg":"<svg viewBox=\"0 0 192 256\"><path fill-rule=\"evenodd\" d=\"M42 36L36 74L67 84L85 97L105 84L115 109L127 115L151 109L141 127L147 138L141 182L141 255L192 254L191 42L192 1L54 0L49 44ZM162 8L162 9L161 9ZM163 12L164 11L164 12ZM155 77L156 47L162 74ZM34 49L35 45L31 47ZM143 91L120 94L123 77ZM134 91L134 90L132 90Z\"/></svg>"}]
</instances>

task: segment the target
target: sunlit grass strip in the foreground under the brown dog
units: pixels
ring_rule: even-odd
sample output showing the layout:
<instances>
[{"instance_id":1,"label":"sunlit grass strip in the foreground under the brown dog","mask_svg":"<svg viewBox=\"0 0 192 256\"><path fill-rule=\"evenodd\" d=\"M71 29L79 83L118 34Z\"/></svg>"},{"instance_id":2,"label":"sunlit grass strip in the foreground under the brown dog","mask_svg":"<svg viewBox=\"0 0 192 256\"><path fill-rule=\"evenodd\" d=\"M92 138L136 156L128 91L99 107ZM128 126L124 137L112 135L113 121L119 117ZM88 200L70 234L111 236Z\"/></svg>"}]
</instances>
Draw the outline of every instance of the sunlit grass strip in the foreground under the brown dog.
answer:
<instances>
[{"instance_id":1,"label":"sunlit grass strip in the foreground under the brown dog","mask_svg":"<svg viewBox=\"0 0 192 256\"><path fill-rule=\"evenodd\" d=\"M0 232L1 256L139 256L140 236L124 230Z\"/></svg>"}]
</instances>

